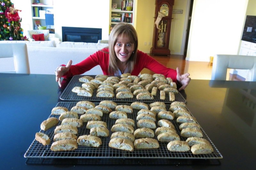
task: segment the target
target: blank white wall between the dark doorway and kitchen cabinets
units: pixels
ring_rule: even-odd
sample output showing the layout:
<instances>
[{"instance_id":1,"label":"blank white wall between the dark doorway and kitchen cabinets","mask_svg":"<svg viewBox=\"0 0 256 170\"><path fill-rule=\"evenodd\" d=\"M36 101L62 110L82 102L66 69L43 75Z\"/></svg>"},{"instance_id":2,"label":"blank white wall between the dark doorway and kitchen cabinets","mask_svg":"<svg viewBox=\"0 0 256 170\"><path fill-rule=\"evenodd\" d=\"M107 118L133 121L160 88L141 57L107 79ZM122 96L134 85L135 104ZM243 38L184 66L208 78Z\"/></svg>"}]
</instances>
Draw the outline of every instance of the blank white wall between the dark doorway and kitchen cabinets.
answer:
<instances>
[{"instance_id":1,"label":"blank white wall between the dark doorway and kitchen cabinets","mask_svg":"<svg viewBox=\"0 0 256 170\"><path fill-rule=\"evenodd\" d=\"M194 0L186 60L238 54L248 0Z\"/></svg>"}]
</instances>

